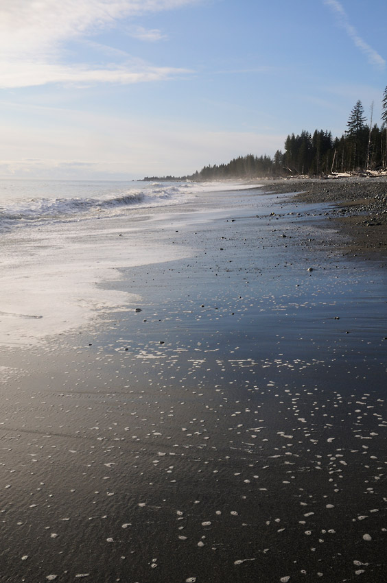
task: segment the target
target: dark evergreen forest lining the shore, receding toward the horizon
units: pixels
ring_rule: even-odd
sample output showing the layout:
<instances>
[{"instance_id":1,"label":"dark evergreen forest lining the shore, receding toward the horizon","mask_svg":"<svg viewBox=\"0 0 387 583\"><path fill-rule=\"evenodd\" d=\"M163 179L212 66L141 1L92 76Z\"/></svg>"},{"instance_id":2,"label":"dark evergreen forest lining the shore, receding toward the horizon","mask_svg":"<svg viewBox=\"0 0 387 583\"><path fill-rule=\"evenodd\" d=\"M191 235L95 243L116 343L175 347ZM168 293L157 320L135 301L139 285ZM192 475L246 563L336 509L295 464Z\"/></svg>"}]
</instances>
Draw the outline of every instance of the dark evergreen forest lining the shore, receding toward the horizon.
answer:
<instances>
[{"instance_id":1,"label":"dark evergreen forest lining the shore, receding toward the horizon","mask_svg":"<svg viewBox=\"0 0 387 583\"><path fill-rule=\"evenodd\" d=\"M273 157L239 156L227 164L204 166L180 180L219 180L222 178L275 177L308 174L324 176L332 173L352 173L387 169L387 86L382 97L382 125L373 125L373 105L368 123L361 101L357 101L347 121L347 130L333 138L328 130L303 130L289 135L284 152ZM144 178L154 180L159 177ZM164 180L173 180L167 176Z\"/></svg>"}]
</instances>

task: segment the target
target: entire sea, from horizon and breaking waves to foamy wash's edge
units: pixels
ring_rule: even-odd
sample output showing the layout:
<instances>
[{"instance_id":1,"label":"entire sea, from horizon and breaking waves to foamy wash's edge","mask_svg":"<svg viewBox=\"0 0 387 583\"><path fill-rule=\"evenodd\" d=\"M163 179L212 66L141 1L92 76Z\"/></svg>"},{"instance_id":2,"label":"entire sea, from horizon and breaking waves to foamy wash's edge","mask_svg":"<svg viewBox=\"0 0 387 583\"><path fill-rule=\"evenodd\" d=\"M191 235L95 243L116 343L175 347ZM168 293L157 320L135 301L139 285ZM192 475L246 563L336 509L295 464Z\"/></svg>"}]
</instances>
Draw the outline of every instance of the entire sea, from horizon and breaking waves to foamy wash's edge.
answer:
<instances>
[{"instance_id":1,"label":"entire sea, from horizon and breaking waves to foamy wash's edge","mask_svg":"<svg viewBox=\"0 0 387 583\"><path fill-rule=\"evenodd\" d=\"M104 309L132 307L137 295L103 284L119 278L120 269L191 254L147 240L144 222L156 209L243 188L231 182L2 180L0 343L35 344L88 325Z\"/></svg>"}]
</instances>

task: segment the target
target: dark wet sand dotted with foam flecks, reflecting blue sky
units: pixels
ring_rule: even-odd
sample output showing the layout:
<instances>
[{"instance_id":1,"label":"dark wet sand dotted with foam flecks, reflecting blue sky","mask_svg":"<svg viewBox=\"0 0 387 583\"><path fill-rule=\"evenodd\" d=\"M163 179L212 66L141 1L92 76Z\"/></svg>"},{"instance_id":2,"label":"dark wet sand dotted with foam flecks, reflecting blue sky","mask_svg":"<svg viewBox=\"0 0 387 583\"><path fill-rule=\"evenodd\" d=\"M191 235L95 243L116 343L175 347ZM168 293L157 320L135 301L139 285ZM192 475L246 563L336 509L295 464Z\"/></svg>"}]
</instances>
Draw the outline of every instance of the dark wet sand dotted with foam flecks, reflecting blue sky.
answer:
<instances>
[{"instance_id":1,"label":"dark wet sand dotted with foam flecks, reflecting blue sky","mask_svg":"<svg viewBox=\"0 0 387 583\"><path fill-rule=\"evenodd\" d=\"M3 346L0 581L385 582L385 263L327 212L253 189L138 213L187 257Z\"/></svg>"}]
</instances>

